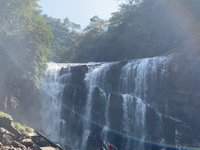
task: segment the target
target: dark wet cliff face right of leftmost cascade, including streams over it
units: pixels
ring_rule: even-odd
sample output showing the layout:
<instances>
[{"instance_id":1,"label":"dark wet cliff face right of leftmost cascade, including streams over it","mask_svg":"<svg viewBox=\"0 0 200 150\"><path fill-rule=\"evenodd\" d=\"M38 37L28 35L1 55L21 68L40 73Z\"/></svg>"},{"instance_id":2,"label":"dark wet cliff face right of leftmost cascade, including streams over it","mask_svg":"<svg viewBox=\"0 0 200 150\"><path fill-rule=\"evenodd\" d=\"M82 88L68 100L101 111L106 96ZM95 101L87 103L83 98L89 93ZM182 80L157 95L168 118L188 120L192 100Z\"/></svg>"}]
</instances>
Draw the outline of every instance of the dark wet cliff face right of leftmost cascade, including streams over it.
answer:
<instances>
[{"instance_id":1,"label":"dark wet cliff face right of leftmost cascade, including streams over it","mask_svg":"<svg viewBox=\"0 0 200 150\"><path fill-rule=\"evenodd\" d=\"M60 66L61 143L81 150L200 146L200 60L183 57Z\"/></svg>"}]
</instances>

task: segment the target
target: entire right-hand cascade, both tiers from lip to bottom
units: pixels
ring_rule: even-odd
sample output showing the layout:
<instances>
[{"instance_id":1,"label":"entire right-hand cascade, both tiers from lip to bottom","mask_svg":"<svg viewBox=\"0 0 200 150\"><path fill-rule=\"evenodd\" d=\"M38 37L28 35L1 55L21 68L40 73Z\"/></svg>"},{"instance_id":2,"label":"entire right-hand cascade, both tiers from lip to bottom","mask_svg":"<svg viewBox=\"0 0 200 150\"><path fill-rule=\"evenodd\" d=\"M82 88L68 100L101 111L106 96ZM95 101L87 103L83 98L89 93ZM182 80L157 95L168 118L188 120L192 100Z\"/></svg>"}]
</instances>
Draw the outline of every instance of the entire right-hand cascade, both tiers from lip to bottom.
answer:
<instances>
[{"instance_id":1,"label":"entire right-hand cascade, both tiers from lip to bottom","mask_svg":"<svg viewBox=\"0 0 200 150\"><path fill-rule=\"evenodd\" d=\"M167 60L167 57L139 59L127 63L121 70L119 86L120 92L123 93L123 130L128 137L125 150L131 149L131 138L140 141L137 146L138 150L144 149L147 91L149 91L150 88L154 88L150 87L149 81L156 82L158 80L158 66L163 65L161 71L163 73ZM152 83L152 85L155 84L156 83ZM128 106L130 101L136 101L134 114L129 113L130 110ZM134 118L134 124L131 124L130 120L132 118ZM134 134L133 131L131 131L131 127L134 127Z\"/></svg>"}]
</instances>

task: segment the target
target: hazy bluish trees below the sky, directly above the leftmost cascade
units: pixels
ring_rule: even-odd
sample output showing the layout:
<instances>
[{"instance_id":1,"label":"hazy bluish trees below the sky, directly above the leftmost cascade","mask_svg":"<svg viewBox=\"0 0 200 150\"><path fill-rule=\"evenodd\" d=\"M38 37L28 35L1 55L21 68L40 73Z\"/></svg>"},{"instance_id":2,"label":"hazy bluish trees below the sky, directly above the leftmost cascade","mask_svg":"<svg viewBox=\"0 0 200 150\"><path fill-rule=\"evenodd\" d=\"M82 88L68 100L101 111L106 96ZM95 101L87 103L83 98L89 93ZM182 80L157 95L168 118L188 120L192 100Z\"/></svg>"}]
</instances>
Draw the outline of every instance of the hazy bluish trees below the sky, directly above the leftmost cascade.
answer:
<instances>
[{"instance_id":1,"label":"hazy bluish trees below the sky, directly above the leftmost cascade","mask_svg":"<svg viewBox=\"0 0 200 150\"><path fill-rule=\"evenodd\" d=\"M69 21L64 21L45 16L46 22L51 27L53 39L51 43L51 52L49 61L65 62L70 61L76 45L80 41L80 25Z\"/></svg>"}]
</instances>

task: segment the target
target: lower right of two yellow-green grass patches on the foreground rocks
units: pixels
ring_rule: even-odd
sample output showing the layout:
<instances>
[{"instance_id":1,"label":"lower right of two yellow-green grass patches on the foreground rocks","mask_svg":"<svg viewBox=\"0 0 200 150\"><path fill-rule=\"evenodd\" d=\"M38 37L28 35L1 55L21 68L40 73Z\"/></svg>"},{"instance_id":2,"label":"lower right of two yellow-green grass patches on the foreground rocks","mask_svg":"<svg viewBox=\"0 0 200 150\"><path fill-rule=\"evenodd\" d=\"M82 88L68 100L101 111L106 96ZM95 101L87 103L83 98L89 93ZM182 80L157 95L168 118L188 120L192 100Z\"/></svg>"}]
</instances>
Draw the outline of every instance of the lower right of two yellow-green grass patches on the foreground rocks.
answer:
<instances>
[{"instance_id":1,"label":"lower right of two yellow-green grass patches on the foreground rocks","mask_svg":"<svg viewBox=\"0 0 200 150\"><path fill-rule=\"evenodd\" d=\"M12 122L12 125L15 129L17 129L18 131L20 131L23 135L28 136L29 133L33 133L34 130L33 128L24 125L24 124L20 124L19 122Z\"/></svg>"}]
</instances>

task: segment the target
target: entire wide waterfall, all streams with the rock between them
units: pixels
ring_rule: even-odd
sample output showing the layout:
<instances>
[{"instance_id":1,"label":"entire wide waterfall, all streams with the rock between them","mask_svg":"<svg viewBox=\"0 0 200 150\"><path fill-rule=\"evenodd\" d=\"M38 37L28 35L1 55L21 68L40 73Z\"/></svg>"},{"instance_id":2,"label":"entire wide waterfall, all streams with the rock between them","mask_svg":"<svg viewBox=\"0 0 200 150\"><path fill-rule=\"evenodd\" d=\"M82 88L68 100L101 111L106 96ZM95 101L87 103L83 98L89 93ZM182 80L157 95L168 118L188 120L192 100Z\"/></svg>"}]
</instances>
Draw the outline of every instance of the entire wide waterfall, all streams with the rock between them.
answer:
<instances>
[{"instance_id":1,"label":"entire wide waterfall, all streams with the rock between them","mask_svg":"<svg viewBox=\"0 0 200 150\"><path fill-rule=\"evenodd\" d=\"M96 135L94 136L94 133L100 134L101 140L104 143L113 142L118 144L121 142L122 145L117 145L118 148L120 147L119 149L145 150L145 140L151 137L146 132L147 111L150 109L149 101L155 96L158 88L157 82L159 81L160 74L165 73L168 60L168 57L155 57L133 60L123 65L120 65L120 62L84 64L88 70L84 72L83 79L79 81L80 84L77 83L77 80L72 81L71 78L71 76L79 77L80 72L77 73L77 76L70 69L74 66L81 68L81 64L50 64L41 85L41 89L43 90L41 114L44 116L42 124L45 133L50 135L54 141L60 142L61 130L61 132L68 134L66 135L68 137L62 140L63 142L61 143L72 145L81 150L89 150L88 141L95 138ZM60 76L62 67L65 68L65 73ZM65 79L65 83L61 82L64 76L65 78L69 76ZM76 84L73 82L76 82ZM62 99L64 86L69 83L70 86L66 89L73 89L70 90L73 93L68 94L68 96L72 95L72 97ZM82 86L82 84L85 86ZM74 106L76 98L79 97L77 95L80 92L77 88L80 86L86 89L85 103L79 106L83 108L81 108L83 111ZM82 90L84 91L84 89ZM99 96L96 91L103 93L103 96L100 96L101 100L97 101L97 97ZM66 108L62 107L62 102L66 103L66 101L69 101L69 104L72 105L67 106L71 107L72 112L70 112L71 115L67 119L61 119L61 109ZM101 107L104 109L104 112L95 112L96 110L93 110L96 109L94 108L94 104L97 102L102 104ZM113 110L119 114L118 118L113 117L115 114L112 112ZM155 109L155 113L159 114L156 111ZM94 118L93 113L96 113L100 117ZM77 117L80 120L78 122ZM157 117L157 119L159 132L162 132L163 125L160 123L162 122L162 116ZM97 122L101 123L97 124ZM74 136L73 131L70 130L76 130L73 128L76 124L78 124L77 127L80 127L81 130ZM96 129L94 128L94 124L97 124L100 131L92 131ZM62 130L63 126L67 129ZM115 135L119 137L123 135L123 138L126 140L119 140L115 138ZM73 140L70 140L70 137L73 137ZM162 137L159 138L165 140ZM137 142L133 142L134 140Z\"/></svg>"}]
</instances>

